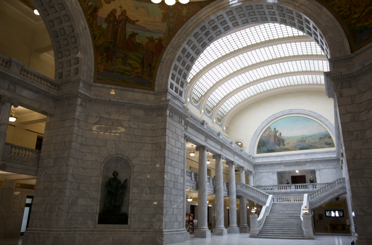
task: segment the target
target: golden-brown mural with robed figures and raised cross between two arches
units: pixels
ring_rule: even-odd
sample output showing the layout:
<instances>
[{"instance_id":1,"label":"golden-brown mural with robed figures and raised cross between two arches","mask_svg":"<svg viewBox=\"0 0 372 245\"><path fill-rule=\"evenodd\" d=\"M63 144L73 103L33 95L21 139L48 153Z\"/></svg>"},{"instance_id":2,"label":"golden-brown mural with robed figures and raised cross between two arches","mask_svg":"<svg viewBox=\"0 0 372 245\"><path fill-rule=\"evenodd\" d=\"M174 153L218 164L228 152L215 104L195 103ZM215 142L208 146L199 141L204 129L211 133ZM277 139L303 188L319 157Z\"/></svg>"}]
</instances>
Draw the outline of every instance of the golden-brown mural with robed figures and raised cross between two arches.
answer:
<instances>
[{"instance_id":1,"label":"golden-brown mural with robed figures and raised cross between two arches","mask_svg":"<svg viewBox=\"0 0 372 245\"><path fill-rule=\"evenodd\" d=\"M164 48L200 8L134 0L80 0L96 48L94 82L154 89Z\"/></svg>"}]
</instances>

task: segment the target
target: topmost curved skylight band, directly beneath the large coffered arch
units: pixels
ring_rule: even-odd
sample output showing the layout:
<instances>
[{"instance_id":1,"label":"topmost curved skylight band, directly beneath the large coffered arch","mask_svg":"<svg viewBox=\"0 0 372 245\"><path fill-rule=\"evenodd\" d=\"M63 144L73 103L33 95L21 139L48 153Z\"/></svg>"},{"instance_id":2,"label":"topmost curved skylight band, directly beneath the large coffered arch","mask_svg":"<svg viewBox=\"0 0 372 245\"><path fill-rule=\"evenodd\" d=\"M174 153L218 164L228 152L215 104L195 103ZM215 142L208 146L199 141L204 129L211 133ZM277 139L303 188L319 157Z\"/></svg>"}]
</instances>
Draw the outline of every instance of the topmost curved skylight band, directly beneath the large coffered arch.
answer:
<instances>
[{"instance_id":1,"label":"topmost curved skylight band, directly beneath the large coffered arch","mask_svg":"<svg viewBox=\"0 0 372 245\"><path fill-rule=\"evenodd\" d=\"M190 82L192 77L203 69L203 67L234 50L267 40L287 36L304 35L306 34L290 26L275 23L266 23L263 25L253 26L251 28L232 33L214 41L203 51L203 53L195 61L196 66L194 65L192 67L187 82Z\"/></svg>"}]
</instances>

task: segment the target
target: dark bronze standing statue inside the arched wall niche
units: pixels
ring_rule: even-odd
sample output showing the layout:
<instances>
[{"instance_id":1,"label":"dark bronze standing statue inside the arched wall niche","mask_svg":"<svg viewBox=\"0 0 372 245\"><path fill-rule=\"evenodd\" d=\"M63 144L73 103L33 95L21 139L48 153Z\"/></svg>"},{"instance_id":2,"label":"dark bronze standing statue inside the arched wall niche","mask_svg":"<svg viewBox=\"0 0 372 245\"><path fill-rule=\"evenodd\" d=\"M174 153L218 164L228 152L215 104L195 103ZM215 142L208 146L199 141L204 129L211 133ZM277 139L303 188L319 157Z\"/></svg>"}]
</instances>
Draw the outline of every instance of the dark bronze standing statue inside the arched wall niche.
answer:
<instances>
[{"instance_id":1,"label":"dark bronze standing statue inside the arched wall niche","mask_svg":"<svg viewBox=\"0 0 372 245\"><path fill-rule=\"evenodd\" d=\"M120 207L123 203L123 196L125 194L128 179L125 179L123 183L121 183L118 179L118 175L118 172L113 171L113 178L109 178L105 184L107 194L102 211L102 214L104 215L119 215L120 213Z\"/></svg>"}]
</instances>

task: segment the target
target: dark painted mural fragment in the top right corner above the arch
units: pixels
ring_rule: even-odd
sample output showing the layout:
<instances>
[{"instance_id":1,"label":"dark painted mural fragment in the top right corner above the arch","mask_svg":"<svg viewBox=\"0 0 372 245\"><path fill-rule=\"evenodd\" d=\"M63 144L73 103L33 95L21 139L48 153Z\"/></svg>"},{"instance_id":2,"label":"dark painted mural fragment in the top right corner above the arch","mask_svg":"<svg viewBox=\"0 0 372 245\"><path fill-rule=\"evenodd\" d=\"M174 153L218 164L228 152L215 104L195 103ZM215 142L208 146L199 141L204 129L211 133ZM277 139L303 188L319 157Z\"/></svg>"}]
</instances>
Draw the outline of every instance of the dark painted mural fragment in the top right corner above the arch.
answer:
<instances>
[{"instance_id":1,"label":"dark painted mural fragment in the top right corner above the arch","mask_svg":"<svg viewBox=\"0 0 372 245\"><path fill-rule=\"evenodd\" d=\"M350 31L350 44L355 51L372 41L372 4L371 0L324 0L343 19ZM350 40L349 40L350 41Z\"/></svg>"}]
</instances>

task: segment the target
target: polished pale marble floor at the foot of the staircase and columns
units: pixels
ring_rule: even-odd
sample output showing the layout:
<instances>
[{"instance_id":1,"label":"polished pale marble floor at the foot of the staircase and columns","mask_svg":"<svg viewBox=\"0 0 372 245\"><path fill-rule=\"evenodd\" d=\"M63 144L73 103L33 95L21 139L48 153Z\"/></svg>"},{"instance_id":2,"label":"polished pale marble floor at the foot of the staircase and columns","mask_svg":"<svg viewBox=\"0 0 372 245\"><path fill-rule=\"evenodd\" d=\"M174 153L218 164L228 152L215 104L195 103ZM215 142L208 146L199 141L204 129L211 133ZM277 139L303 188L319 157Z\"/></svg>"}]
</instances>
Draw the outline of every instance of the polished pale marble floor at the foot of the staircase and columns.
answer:
<instances>
[{"instance_id":1,"label":"polished pale marble floor at the foot of the staircase and columns","mask_svg":"<svg viewBox=\"0 0 372 245\"><path fill-rule=\"evenodd\" d=\"M177 245L350 245L352 241L353 238L346 235L315 235L315 240L291 240L249 238L249 234L241 233L211 238L191 238L190 241L177 243ZM22 238L0 240L0 245L21 244Z\"/></svg>"}]
</instances>

